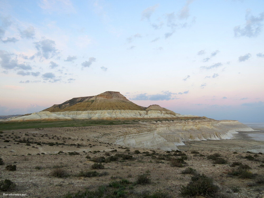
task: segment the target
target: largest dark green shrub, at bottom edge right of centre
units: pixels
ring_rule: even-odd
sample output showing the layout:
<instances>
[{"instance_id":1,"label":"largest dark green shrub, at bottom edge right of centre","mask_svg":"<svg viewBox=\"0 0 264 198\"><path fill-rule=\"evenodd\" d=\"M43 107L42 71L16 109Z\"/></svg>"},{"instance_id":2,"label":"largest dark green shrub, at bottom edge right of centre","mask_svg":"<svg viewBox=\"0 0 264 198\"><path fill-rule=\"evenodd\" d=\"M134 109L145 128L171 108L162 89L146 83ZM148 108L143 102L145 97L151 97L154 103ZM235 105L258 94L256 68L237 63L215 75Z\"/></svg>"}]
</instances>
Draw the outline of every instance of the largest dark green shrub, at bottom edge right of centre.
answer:
<instances>
[{"instance_id":1,"label":"largest dark green shrub, at bottom edge right of centre","mask_svg":"<svg viewBox=\"0 0 264 198\"><path fill-rule=\"evenodd\" d=\"M191 182L187 186L181 187L180 192L183 196L212 196L218 189L212 178L204 174L197 174L191 178Z\"/></svg>"}]
</instances>

